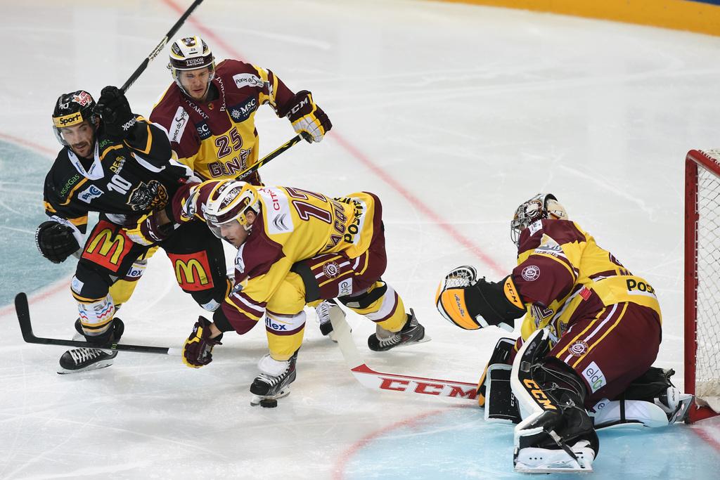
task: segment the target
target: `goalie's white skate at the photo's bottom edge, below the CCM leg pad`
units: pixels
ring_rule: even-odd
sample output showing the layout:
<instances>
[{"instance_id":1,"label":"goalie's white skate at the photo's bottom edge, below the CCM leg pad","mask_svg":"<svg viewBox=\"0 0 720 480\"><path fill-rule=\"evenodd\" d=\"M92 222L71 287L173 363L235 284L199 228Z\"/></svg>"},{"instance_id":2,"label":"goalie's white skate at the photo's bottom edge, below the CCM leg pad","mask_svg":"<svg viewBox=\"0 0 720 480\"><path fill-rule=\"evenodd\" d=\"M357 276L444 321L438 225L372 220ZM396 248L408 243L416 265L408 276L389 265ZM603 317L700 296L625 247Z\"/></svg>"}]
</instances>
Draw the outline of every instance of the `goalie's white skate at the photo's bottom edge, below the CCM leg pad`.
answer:
<instances>
[{"instance_id":1,"label":"goalie's white skate at the photo's bottom edge, below the CCM leg pad","mask_svg":"<svg viewBox=\"0 0 720 480\"><path fill-rule=\"evenodd\" d=\"M588 440L580 440L570 450L575 458L562 448L520 448L513 456L515 471L525 474L576 474L593 471L595 451Z\"/></svg>"}]
</instances>

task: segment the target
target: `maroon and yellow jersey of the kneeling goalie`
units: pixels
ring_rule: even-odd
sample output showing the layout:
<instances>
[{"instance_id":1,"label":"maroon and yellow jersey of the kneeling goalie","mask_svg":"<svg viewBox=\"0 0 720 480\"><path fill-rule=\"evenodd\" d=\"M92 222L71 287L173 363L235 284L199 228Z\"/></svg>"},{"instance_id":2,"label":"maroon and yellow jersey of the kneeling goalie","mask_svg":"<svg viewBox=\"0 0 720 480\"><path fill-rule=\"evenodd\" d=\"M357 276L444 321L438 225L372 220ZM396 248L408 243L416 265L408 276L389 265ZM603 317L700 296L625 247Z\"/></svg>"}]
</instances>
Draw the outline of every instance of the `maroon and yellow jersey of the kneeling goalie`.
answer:
<instances>
[{"instance_id":1,"label":"maroon and yellow jersey of the kneeling goalie","mask_svg":"<svg viewBox=\"0 0 720 480\"><path fill-rule=\"evenodd\" d=\"M575 321L621 302L649 307L662 318L652 286L570 220L537 220L523 230L513 281L528 305L523 340L549 326L557 343Z\"/></svg>"}]
</instances>

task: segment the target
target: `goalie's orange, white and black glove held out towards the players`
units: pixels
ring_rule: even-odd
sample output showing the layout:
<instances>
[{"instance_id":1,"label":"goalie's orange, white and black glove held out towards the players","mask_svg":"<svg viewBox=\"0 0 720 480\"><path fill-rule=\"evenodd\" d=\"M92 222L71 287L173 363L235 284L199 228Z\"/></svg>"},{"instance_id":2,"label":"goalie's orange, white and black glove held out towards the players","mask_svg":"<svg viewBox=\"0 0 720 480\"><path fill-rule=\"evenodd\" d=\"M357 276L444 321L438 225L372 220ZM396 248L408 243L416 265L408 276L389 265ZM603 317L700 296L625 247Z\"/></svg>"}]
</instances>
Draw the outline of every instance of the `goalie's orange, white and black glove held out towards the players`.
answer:
<instances>
[{"instance_id":1,"label":"goalie's orange, white and black glove held out towards the players","mask_svg":"<svg viewBox=\"0 0 720 480\"><path fill-rule=\"evenodd\" d=\"M513 320L525 314L512 276L495 283L477 279L471 266L455 268L445 276L435 294L438 312L465 330L495 325L513 331Z\"/></svg>"}]
</instances>

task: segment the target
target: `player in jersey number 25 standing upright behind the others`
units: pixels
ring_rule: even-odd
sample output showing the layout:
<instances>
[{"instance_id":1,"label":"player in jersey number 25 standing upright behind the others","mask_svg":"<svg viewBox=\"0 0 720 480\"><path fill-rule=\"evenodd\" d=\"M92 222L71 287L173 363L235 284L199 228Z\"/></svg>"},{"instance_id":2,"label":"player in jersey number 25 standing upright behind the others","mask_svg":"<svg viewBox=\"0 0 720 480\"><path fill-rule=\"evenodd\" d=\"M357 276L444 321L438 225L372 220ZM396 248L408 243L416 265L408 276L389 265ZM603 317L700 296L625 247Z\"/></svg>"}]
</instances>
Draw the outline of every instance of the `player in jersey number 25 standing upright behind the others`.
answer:
<instances>
[{"instance_id":1,"label":"player in jersey number 25 standing upright behind the others","mask_svg":"<svg viewBox=\"0 0 720 480\"><path fill-rule=\"evenodd\" d=\"M268 104L286 117L308 142L320 142L333 124L307 90L294 94L273 72L239 60L215 56L199 36L183 37L170 47L174 83L150 113L150 121L168 131L179 161L203 180L235 178L258 161L255 115ZM244 179L260 184L257 172ZM332 331L330 299L316 308L320 331Z\"/></svg>"}]
</instances>

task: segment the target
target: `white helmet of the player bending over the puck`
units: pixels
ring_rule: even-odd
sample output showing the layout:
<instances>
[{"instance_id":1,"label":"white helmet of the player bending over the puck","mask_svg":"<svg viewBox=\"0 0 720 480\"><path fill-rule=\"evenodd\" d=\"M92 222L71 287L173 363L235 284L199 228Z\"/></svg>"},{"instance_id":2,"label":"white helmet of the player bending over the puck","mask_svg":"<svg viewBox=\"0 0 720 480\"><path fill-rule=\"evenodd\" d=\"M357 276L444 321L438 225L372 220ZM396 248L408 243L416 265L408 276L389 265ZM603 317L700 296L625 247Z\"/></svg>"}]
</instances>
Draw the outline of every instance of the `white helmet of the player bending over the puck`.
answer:
<instances>
[{"instance_id":1,"label":"white helmet of the player bending over the puck","mask_svg":"<svg viewBox=\"0 0 720 480\"><path fill-rule=\"evenodd\" d=\"M238 222L250 230L246 213L260 213L260 196L255 186L244 181L227 180L210 192L205 203L205 222L215 236L220 237L220 225Z\"/></svg>"}]
</instances>

